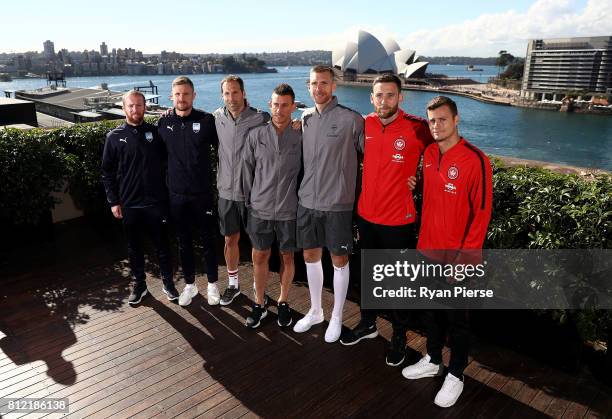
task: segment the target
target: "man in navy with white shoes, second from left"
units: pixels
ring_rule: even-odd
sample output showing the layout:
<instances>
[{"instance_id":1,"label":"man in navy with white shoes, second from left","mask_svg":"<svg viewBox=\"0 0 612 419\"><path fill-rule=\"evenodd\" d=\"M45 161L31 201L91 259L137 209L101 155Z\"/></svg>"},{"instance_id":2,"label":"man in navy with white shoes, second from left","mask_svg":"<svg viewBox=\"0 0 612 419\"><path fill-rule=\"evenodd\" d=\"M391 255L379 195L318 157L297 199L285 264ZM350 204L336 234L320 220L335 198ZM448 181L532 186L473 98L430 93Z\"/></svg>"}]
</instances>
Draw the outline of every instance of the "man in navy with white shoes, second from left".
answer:
<instances>
[{"instance_id":1,"label":"man in navy with white shoes, second from left","mask_svg":"<svg viewBox=\"0 0 612 419\"><path fill-rule=\"evenodd\" d=\"M219 140L212 114L193 109L195 91L188 77L172 82L174 108L159 119L159 135L168 151L170 211L176 223L185 289L179 304L186 306L198 293L192 229L202 240L208 277L208 304L219 304L217 288L216 218L211 184L211 150Z\"/></svg>"}]
</instances>

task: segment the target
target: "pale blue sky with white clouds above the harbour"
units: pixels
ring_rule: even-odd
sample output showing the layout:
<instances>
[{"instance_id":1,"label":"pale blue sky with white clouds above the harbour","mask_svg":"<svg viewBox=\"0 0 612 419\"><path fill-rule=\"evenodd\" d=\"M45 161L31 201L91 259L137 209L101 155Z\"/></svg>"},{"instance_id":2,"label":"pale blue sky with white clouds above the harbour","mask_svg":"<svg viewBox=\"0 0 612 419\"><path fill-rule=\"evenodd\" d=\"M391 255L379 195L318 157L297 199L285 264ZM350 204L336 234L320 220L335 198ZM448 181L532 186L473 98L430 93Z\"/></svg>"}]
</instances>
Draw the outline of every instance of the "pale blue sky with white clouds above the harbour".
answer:
<instances>
[{"instance_id":1,"label":"pale blue sky with white clouds above the harbour","mask_svg":"<svg viewBox=\"0 0 612 419\"><path fill-rule=\"evenodd\" d=\"M31 0L3 3L0 52L133 47L145 53L333 49L362 28L421 55L522 55L535 37L612 35L612 0Z\"/></svg>"}]
</instances>

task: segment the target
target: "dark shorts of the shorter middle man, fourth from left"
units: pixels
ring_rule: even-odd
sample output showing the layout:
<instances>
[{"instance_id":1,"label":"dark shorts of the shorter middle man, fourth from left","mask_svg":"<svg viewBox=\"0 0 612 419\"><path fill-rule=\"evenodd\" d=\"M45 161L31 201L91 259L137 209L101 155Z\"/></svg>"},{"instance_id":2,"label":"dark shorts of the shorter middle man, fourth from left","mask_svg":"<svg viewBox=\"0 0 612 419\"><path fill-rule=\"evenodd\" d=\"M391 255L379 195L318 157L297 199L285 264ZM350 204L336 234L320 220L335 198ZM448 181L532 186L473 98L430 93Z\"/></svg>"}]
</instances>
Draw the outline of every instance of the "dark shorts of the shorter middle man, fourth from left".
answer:
<instances>
[{"instance_id":1,"label":"dark shorts of the shorter middle man, fourth from left","mask_svg":"<svg viewBox=\"0 0 612 419\"><path fill-rule=\"evenodd\" d=\"M257 250L270 249L276 237L281 252L295 252L297 251L295 224L295 220L262 220L249 214L246 230L251 238L251 244Z\"/></svg>"}]
</instances>

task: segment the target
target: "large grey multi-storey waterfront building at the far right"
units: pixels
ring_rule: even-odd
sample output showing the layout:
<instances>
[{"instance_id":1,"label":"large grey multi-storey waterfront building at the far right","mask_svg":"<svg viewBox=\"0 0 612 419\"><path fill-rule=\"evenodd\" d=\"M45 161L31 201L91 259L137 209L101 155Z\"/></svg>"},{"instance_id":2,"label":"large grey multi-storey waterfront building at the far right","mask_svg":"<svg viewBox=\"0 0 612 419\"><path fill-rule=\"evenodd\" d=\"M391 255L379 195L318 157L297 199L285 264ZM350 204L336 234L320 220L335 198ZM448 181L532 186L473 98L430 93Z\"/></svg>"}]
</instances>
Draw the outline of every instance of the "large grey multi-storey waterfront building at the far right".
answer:
<instances>
[{"instance_id":1,"label":"large grey multi-storey waterfront building at the far right","mask_svg":"<svg viewBox=\"0 0 612 419\"><path fill-rule=\"evenodd\" d=\"M568 92L612 95L612 36L529 40L521 96L561 100Z\"/></svg>"}]
</instances>

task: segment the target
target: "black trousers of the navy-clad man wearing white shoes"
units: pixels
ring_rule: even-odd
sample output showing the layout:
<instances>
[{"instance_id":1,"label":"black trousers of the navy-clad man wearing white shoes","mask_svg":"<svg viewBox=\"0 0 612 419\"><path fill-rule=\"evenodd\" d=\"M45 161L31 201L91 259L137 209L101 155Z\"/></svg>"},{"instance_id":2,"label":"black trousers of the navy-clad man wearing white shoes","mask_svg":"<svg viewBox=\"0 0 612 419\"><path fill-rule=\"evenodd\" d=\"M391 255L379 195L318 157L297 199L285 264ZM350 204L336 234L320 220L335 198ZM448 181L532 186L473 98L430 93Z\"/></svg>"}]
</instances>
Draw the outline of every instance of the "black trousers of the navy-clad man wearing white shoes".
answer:
<instances>
[{"instance_id":1,"label":"black trousers of the navy-clad man wearing white shoes","mask_svg":"<svg viewBox=\"0 0 612 419\"><path fill-rule=\"evenodd\" d=\"M217 217L211 199L205 195L186 196L171 193L170 211L176 225L185 283L193 284L195 281L193 231L197 232L202 241L208 282L217 282Z\"/></svg>"}]
</instances>

